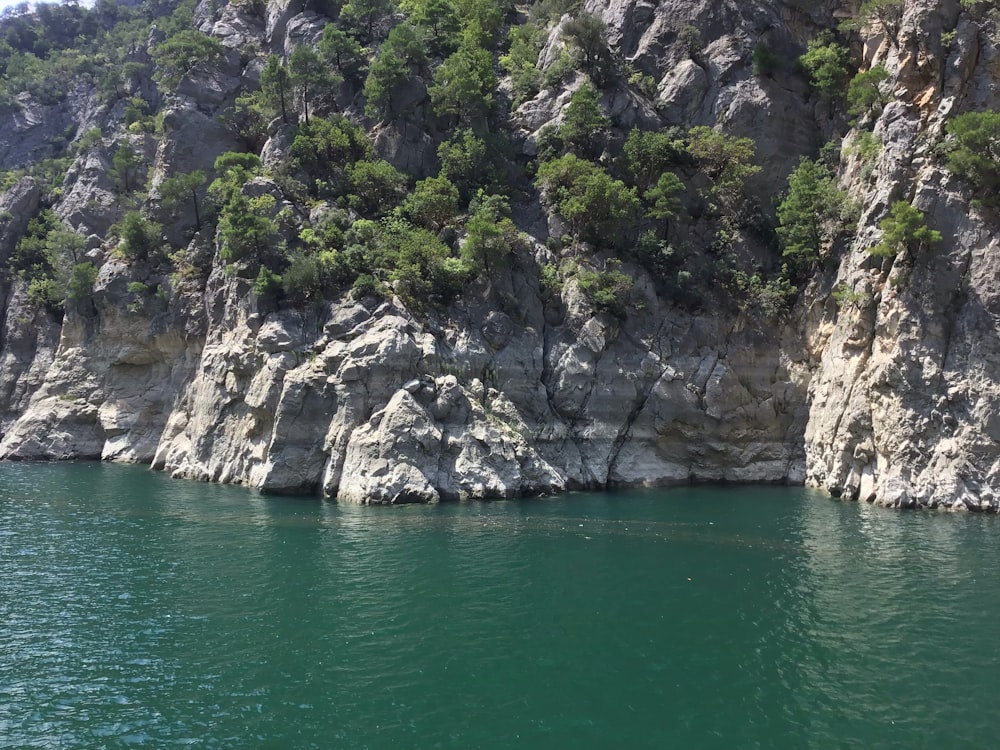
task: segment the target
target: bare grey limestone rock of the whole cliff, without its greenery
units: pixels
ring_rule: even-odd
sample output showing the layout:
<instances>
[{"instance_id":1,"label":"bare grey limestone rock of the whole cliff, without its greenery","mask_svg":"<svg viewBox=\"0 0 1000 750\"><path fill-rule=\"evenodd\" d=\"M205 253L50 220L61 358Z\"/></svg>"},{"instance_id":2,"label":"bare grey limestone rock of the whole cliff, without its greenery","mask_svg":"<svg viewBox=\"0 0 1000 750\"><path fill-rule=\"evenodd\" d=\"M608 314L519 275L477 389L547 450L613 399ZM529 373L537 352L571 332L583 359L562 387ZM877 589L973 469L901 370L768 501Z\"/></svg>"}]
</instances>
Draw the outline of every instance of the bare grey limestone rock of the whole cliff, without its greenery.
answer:
<instances>
[{"instance_id":1,"label":"bare grey limestone rock of the whole cliff, without its greenery","mask_svg":"<svg viewBox=\"0 0 1000 750\"><path fill-rule=\"evenodd\" d=\"M844 120L817 106L791 70L751 74L758 43L794 59L845 15L838 3L807 5L588 0L616 51L655 81L648 96L624 86L605 94L613 137L635 124L718 124L750 136L763 167L753 190L769 211L800 156ZM275 309L217 257L207 280L151 276L102 244L119 218L99 168L119 141L105 138L77 157L55 205L81 233L97 235L88 256L100 266L93 304L71 306L60 321L28 304L23 282L0 283L0 457L151 462L177 477L351 502L734 481L996 510L998 223L970 208L932 149L956 108L1000 107L996 49L957 2L904 6L897 43L870 36L864 52L868 65L892 73L894 101L874 124L884 144L877 162L864 167L844 151L841 182L864 206L857 232L839 265L818 272L780 321L684 311L628 263L628 314L595 312L575 280L558 290L540 282L540 268L559 260L546 240L561 225L537 203L516 214L526 247L447 312L350 295ZM168 172L210 169L237 148L219 115L255 85L261 65L238 51L287 51L324 23L284 1L269 2L262 18L207 4L196 18L232 52L170 94L158 143L120 136L149 155L154 205ZM678 42L685 27L704 42L698 54ZM951 30L946 46L942 33ZM558 44L553 32L543 67ZM524 153L560 120L578 84L545 89L511 112ZM42 121L37 108L24 108L22 119ZM100 119L73 99L52 121L73 117ZM0 142L8 167L44 141L20 125L0 132L13 134ZM265 161L280 160L288 144L281 128L269 132ZM373 135L397 166L430 172L433 149L412 123ZM944 241L873 258L879 221L900 198L925 211ZM0 212L14 217L0 226L4 258L38 200L30 179L0 196ZM165 231L186 243L193 219L185 211L175 209ZM753 251L752 236L737 242ZM204 232L187 252L215 246ZM600 247L594 255L608 259ZM136 281L150 291L134 291ZM852 301L838 307L835 287L852 290Z\"/></svg>"}]
</instances>

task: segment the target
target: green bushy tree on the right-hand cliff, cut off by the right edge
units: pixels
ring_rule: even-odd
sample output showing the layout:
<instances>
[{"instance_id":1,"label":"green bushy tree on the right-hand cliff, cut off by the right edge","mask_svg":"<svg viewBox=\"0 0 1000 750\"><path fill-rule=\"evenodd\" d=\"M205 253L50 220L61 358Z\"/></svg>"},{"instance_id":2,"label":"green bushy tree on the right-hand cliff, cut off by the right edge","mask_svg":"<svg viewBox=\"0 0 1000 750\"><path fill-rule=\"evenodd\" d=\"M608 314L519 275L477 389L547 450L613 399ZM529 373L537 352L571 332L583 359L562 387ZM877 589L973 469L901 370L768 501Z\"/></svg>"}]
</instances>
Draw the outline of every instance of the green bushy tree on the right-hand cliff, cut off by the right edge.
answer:
<instances>
[{"instance_id":1,"label":"green bushy tree on the right-hand cliff, cut off by the right edge","mask_svg":"<svg viewBox=\"0 0 1000 750\"><path fill-rule=\"evenodd\" d=\"M966 112L945 129L953 140L948 169L968 180L984 202L1000 202L1000 112Z\"/></svg>"}]
</instances>

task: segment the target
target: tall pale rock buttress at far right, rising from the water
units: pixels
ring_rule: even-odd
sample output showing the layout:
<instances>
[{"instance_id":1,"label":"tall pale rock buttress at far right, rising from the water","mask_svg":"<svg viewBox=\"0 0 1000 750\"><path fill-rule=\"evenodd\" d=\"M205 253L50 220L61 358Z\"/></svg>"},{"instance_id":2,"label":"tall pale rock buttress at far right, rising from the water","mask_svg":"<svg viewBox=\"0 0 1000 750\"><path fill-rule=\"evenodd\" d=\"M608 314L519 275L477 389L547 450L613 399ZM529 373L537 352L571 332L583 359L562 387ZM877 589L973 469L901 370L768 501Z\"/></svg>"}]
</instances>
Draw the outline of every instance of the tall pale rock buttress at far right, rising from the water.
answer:
<instances>
[{"instance_id":1,"label":"tall pale rock buttress at far right, rising from the water","mask_svg":"<svg viewBox=\"0 0 1000 750\"><path fill-rule=\"evenodd\" d=\"M837 281L859 299L824 332L809 386L807 481L888 505L995 510L996 218L970 207L930 147L955 107L997 108L997 50L954 4L907 8L898 48L869 50L898 71L899 101L876 123L887 148L871 177L853 181L865 211ZM926 212L943 241L877 263L864 248L900 198Z\"/></svg>"}]
</instances>

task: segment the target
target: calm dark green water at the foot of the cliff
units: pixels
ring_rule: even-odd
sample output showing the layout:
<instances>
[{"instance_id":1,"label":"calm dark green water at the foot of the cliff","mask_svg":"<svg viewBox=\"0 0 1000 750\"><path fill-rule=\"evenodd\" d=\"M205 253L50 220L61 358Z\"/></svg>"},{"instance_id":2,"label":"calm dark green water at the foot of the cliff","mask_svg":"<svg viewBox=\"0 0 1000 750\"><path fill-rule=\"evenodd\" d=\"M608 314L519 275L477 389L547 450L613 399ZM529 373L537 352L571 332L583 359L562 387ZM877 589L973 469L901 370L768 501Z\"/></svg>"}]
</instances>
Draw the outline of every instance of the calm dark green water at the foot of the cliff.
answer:
<instances>
[{"instance_id":1,"label":"calm dark green water at the foot of the cliff","mask_svg":"<svg viewBox=\"0 0 1000 750\"><path fill-rule=\"evenodd\" d=\"M994 747L998 539L795 489L358 508L0 464L0 747Z\"/></svg>"}]
</instances>

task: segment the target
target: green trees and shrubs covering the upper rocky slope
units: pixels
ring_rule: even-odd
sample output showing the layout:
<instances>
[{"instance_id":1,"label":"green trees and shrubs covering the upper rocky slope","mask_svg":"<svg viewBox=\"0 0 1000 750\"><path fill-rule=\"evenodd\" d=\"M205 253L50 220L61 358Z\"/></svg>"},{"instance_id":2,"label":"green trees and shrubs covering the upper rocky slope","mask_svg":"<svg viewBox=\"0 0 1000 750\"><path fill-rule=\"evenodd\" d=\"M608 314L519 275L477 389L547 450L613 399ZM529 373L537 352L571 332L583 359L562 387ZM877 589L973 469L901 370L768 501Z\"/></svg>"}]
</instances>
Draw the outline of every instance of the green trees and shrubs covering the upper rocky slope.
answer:
<instances>
[{"instance_id":1,"label":"green trees and shrubs covering the upper rocky slope","mask_svg":"<svg viewBox=\"0 0 1000 750\"><path fill-rule=\"evenodd\" d=\"M879 66L855 73L849 35L872 23L891 32L897 6L865 3L853 30L809 41L799 64L818 100L846 97L860 119L884 106L889 74ZM216 19L262 23L264 4L250 0L7 11L0 106L84 97L102 114L99 127L70 125L20 154L21 163L7 163L4 184L36 176L50 212L66 170L97 152L120 199L104 210L122 256L197 273L211 257L185 250L180 222L188 238L214 244L231 273L256 279L277 305L355 287L399 295L415 309L446 307L488 286L505 257L527 247L511 209L527 215L540 199L564 230L535 239L555 253L557 276L580 278L584 268L615 290L613 304L595 302L603 309L628 314L625 262L645 267L678 305L774 315L818 263L835 257L837 238L856 217L837 188L836 160L804 160L787 193L770 203L752 186L760 172L752 139L720 127L657 127L655 117L624 124L611 100L624 95L633 108L653 111L655 80L615 48L600 17L572 1L357 0L311 10L309 33L280 51L263 38L234 47L207 33ZM682 31L680 43L699 60L701 32ZM163 115L187 95L185 81L225 75L234 56L252 74L244 73L219 116L245 152L185 172L169 161L150 169L151 155L171 138ZM764 42L753 62L769 77L795 63ZM514 108L562 88L572 93L561 115L525 149ZM975 143L984 126L965 122L956 120L959 147L949 163L985 190L990 168ZM414 128L431 142L430 158L408 168L380 158L373 133ZM257 158L267 144L268 158ZM44 217L33 227L9 270L32 285L39 304L58 309L67 295L79 296L86 278L59 269L92 263L75 251L32 250L31 243L59 245L52 238L67 230ZM156 235L170 227L165 244Z\"/></svg>"}]
</instances>

